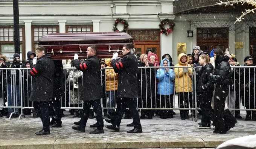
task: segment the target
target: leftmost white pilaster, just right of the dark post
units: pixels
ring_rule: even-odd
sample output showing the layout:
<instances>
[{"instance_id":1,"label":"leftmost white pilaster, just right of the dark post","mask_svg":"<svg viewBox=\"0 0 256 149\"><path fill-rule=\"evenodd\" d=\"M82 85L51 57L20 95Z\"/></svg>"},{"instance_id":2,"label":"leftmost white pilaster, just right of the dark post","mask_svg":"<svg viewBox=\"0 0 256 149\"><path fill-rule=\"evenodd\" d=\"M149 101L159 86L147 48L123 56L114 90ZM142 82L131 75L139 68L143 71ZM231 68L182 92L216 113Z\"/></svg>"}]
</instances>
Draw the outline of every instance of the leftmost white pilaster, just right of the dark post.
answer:
<instances>
[{"instance_id":1,"label":"leftmost white pilaster, just right of the dark post","mask_svg":"<svg viewBox=\"0 0 256 149\"><path fill-rule=\"evenodd\" d=\"M26 47L26 53L25 53L25 56L26 56L26 59L27 59L27 52L28 51L32 51L32 34L31 34L31 23L32 23L32 20L26 20L24 21L25 23L25 47ZM35 49L33 49L35 50Z\"/></svg>"}]
</instances>

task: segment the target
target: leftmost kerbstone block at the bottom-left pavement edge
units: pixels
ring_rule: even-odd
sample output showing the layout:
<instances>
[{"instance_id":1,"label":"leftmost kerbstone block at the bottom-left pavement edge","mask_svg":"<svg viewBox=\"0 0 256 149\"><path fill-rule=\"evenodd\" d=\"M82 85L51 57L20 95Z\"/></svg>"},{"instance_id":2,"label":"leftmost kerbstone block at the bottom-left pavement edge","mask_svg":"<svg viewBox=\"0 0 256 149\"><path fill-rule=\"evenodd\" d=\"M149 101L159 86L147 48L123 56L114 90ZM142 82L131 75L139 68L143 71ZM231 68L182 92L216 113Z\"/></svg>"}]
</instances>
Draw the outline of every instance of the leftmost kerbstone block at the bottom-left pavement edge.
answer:
<instances>
[{"instance_id":1,"label":"leftmost kerbstone block at the bottom-left pavement edge","mask_svg":"<svg viewBox=\"0 0 256 149\"><path fill-rule=\"evenodd\" d=\"M0 140L0 149L52 149L53 139Z\"/></svg>"}]
</instances>

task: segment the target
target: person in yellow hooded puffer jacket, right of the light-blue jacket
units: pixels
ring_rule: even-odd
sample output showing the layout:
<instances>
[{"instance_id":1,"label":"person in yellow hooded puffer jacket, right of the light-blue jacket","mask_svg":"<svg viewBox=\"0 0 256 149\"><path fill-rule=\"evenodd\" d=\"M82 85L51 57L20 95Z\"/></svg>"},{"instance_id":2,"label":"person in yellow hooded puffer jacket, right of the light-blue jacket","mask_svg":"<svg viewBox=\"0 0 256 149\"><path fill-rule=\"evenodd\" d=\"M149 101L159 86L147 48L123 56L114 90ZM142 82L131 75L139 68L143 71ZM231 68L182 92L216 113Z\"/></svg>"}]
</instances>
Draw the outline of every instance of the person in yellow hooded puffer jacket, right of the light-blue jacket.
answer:
<instances>
[{"instance_id":1,"label":"person in yellow hooded puffer jacket, right of the light-blue jacket","mask_svg":"<svg viewBox=\"0 0 256 149\"><path fill-rule=\"evenodd\" d=\"M178 56L178 64L175 67L191 67L188 65L189 57L181 53ZM193 69L190 68L174 68L175 72L175 90L178 94L178 102L180 108L189 108L192 103L192 79ZM182 120L189 119L189 110L180 110L180 118Z\"/></svg>"}]
</instances>

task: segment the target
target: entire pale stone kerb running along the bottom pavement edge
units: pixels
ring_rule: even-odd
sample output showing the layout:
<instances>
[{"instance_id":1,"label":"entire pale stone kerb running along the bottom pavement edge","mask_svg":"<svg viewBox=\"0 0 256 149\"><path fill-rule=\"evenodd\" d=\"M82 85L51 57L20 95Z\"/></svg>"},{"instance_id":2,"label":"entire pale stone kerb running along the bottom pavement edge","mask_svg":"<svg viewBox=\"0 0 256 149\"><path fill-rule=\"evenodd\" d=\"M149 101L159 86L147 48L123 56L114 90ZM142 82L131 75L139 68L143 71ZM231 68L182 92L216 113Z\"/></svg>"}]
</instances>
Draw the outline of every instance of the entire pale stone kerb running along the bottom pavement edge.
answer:
<instances>
[{"instance_id":1,"label":"entire pale stone kerb running along the bottom pavement edge","mask_svg":"<svg viewBox=\"0 0 256 149\"><path fill-rule=\"evenodd\" d=\"M133 137L120 138L0 140L0 149L203 148L217 147L224 141L236 137L240 136L210 135L197 137L182 135L180 137L145 137L143 135L133 135Z\"/></svg>"}]
</instances>

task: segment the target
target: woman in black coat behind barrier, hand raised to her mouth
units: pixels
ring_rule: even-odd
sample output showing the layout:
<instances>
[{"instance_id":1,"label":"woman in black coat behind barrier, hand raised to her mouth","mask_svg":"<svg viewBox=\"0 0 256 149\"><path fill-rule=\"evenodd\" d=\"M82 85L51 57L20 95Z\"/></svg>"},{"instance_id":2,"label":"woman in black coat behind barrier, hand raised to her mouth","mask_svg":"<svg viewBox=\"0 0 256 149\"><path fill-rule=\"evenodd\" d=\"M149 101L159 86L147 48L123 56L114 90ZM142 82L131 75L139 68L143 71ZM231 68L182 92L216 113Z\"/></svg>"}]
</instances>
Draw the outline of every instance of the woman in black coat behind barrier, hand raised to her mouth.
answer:
<instances>
[{"instance_id":1,"label":"woman in black coat behind barrier, hand raised to her mouth","mask_svg":"<svg viewBox=\"0 0 256 149\"><path fill-rule=\"evenodd\" d=\"M154 69L146 68L152 67L154 64L148 62L147 54L142 54L140 56L140 62L138 64L139 67L145 67L138 69L137 73L137 80L138 80L138 102L140 106L142 105L143 108L151 108L151 99L152 99L152 107L155 104L155 98L153 97L155 94L155 83L153 78ZM152 97L152 98L151 98ZM154 116L153 110L141 110L141 117L140 119L145 119L146 115L148 115L148 119L152 119Z\"/></svg>"}]
</instances>

